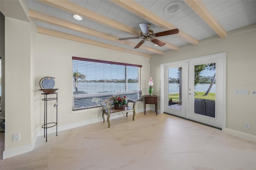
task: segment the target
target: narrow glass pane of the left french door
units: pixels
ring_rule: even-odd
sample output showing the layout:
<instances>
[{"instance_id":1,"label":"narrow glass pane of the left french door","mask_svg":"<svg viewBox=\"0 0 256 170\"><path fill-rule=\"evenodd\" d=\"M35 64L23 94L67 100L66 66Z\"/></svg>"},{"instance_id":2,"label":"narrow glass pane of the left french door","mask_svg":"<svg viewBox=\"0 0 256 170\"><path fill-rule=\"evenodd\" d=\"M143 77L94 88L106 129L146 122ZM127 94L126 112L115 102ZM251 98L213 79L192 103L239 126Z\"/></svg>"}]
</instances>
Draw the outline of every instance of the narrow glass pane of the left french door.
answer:
<instances>
[{"instance_id":1,"label":"narrow glass pane of the left french door","mask_svg":"<svg viewBox=\"0 0 256 170\"><path fill-rule=\"evenodd\" d=\"M168 107L182 110L182 67L168 70Z\"/></svg>"}]
</instances>

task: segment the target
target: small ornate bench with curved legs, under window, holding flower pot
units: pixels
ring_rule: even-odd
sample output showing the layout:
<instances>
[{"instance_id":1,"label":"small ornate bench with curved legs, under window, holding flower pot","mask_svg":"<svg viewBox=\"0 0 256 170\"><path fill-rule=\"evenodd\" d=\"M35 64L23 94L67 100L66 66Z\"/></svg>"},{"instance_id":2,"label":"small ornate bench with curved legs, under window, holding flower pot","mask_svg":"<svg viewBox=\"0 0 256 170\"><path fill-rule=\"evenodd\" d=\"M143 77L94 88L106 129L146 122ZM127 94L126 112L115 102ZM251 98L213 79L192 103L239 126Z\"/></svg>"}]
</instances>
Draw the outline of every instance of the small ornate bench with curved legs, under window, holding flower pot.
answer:
<instances>
[{"instance_id":1,"label":"small ornate bench with curved legs, under window, holding flower pot","mask_svg":"<svg viewBox=\"0 0 256 170\"><path fill-rule=\"evenodd\" d=\"M110 118L110 115L121 115L121 114L124 114L126 113L126 117L128 115L128 112L133 112L133 120L134 120L134 117L135 117L135 105L136 105L136 101L132 101L132 100L127 100L127 105L125 106L125 109L124 110L116 110L114 108L114 105L112 105L111 103L113 103L113 99L112 98L109 98L109 99L106 99L104 101L102 101L102 103L100 103L102 105L102 118L103 118L103 123L105 122L105 117L104 117L104 114L107 115L107 121L108 121L108 127L110 127L110 122L109 122L109 118ZM128 103L133 103L133 106L130 107L128 106Z\"/></svg>"}]
</instances>

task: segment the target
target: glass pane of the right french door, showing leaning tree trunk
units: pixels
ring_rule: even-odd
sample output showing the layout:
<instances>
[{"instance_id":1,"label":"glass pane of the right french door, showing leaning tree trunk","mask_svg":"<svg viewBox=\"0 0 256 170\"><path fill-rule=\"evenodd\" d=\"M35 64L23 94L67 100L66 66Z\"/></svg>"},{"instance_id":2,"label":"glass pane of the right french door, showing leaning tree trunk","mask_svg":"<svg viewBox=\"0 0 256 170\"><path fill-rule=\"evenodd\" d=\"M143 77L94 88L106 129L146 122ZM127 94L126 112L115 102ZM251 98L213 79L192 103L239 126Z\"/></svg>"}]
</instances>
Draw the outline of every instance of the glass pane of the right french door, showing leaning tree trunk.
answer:
<instances>
[{"instance_id":1,"label":"glass pane of the right french door, showing leaning tree trunk","mask_svg":"<svg viewBox=\"0 0 256 170\"><path fill-rule=\"evenodd\" d=\"M194 113L215 118L216 63L194 66Z\"/></svg>"}]
</instances>

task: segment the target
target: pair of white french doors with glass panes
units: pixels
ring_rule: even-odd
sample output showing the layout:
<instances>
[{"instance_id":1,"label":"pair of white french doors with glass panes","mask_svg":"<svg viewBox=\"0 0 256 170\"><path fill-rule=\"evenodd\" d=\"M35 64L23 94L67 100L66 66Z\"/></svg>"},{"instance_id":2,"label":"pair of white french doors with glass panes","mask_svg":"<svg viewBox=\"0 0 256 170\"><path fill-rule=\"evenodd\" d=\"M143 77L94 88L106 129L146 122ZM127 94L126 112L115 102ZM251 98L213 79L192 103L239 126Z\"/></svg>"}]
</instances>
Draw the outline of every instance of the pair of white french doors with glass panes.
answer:
<instances>
[{"instance_id":1,"label":"pair of white french doors with glass panes","mask_svg":"<svg viewBox=\"0 0 256 170\"><path fill-rule=\"evenodd\" d=\"M226 53L164 65L164 113L222 128L225 65Z\"/></svg>"}]
</instances>

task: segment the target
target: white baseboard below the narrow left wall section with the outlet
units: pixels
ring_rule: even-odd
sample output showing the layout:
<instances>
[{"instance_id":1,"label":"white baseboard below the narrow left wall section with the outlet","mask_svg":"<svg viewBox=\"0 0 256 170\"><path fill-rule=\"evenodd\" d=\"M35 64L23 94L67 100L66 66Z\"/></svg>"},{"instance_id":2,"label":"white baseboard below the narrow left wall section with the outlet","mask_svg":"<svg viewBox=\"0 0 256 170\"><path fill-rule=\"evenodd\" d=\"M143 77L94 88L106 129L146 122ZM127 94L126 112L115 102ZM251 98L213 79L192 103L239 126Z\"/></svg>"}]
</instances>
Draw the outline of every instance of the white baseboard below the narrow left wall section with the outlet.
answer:
<instances>
[{"instance_id":1,"label":"white baseboard below the narrow left wall section with the outlet","mask_svg":"<svg viewBox=\"0 0 256 170\"><path fill-rule=\"evenodd\" d=\"M24 146L12 148L12 149L9 149L9 150L4 150L3 159L10 158L10 157L16 156L18 154L23 154L23 153L32 151L34 146L35 146L37 137L38 137L38 134L35 135L32 143L30 143L30 144L26 144Z\"/></svg>"}]
</instances>

